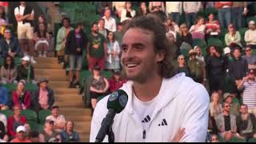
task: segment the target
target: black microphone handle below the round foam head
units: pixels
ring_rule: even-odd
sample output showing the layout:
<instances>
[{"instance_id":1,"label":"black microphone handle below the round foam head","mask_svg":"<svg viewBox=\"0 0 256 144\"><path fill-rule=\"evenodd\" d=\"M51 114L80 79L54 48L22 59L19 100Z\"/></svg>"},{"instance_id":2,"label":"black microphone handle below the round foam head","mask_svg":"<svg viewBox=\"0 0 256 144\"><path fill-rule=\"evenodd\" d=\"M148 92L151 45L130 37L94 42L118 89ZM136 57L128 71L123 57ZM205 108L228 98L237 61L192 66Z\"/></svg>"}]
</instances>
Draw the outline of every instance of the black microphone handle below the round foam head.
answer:
<instances>
[{"instance_id":1,"label":"black microphone handle below the round foam head","mask_svg":"<svg viewBox=\"0 0 256 144\"><path fill-rule=\"evenodd\" d=\"M95 142L102 142L106 137L106 134L110 134L110 130L114 122L115 114L116 112L114 111L114 109L110 109L107 112L106 117L103 119L102 126L98 130L98 134L96 136Z\"/></svg>"}]
</instances>

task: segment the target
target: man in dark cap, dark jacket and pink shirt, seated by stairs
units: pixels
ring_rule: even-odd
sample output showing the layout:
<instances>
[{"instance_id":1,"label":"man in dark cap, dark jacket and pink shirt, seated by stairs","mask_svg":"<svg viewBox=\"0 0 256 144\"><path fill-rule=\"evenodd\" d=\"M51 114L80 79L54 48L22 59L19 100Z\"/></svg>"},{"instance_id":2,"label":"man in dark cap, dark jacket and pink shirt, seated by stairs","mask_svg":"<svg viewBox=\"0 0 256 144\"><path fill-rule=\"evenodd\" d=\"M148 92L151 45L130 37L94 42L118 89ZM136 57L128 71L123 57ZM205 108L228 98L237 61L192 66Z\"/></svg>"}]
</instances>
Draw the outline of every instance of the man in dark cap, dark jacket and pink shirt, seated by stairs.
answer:
<instances>
[{"instance_id":1,"label":"man in dark cap, dark jacket and pink shirt, seated by stairs","mask_svg":"<svg viewBox=\"0 0 256 144\"><path fill-rule=\"evenodd\" d=\"M49 110L54 105L54 91L47 86L46 78L38 80L38 90L34 91L32 107L34 110Z\"/></svg>"}]
</instances>

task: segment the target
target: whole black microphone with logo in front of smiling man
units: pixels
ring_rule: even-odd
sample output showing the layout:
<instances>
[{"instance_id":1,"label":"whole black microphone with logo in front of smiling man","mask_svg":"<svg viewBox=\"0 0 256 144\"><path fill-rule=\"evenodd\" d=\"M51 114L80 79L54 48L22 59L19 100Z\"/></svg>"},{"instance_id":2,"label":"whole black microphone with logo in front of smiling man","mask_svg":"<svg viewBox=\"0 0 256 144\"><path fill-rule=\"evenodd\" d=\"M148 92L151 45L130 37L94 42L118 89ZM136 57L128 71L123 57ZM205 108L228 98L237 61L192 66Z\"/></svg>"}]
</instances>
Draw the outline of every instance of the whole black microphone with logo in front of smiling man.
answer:
<instances>
[{"instance_id":1,"label":"whole black microphone with logo in front of smiling man","mask_svg":"<svg viewBox=\"0 0 256 144\"><path fill-rule=\"evenodd\" d=\"M112 138L111 141L114 142L114 134L112 131L114 116L115 114L119 114L122 110L125 109L127 102L128 94L126 94L124 90L116 90L112 94L110 94L110 97L106 104L108 112L106 114L106 117L102 121L101 128L98 130L95 142L102 142L106 134L109 135L109 137Z\"/></svg>"}]
</instances>

